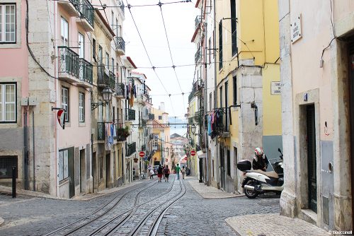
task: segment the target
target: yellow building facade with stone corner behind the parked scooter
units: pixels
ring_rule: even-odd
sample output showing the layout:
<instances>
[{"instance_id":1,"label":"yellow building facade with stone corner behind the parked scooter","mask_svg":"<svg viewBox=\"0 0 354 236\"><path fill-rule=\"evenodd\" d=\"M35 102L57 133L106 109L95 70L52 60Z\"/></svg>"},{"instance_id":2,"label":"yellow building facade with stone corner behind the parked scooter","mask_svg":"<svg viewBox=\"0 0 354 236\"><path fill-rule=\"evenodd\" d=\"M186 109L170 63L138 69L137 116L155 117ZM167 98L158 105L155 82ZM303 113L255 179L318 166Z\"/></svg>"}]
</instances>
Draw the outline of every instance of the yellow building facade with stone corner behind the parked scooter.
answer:
<instances>
[{"instance_id":1,"label":"yellow building facade with stone corner behind the parked scooter","mask_svg":"<svg viewBox=\"0 0 354 236\"><path fill-rule=\"evenodd\" d=\"M225 191L241 191L239 160L282 149L278 1L217 1L215 6L217 150L213 172Z\"/></svg>"}]
</instances>

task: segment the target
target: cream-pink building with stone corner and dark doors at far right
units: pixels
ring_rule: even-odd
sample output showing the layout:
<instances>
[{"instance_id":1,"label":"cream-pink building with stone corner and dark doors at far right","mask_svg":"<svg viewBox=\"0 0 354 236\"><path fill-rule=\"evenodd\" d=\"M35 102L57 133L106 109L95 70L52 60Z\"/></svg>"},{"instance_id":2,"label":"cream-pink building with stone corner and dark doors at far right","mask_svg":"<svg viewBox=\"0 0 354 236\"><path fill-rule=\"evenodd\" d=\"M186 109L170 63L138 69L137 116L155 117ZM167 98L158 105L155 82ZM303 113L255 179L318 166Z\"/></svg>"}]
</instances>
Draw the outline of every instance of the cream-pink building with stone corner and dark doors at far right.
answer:
<instances>
[{"instance_id":1,"label":"cream-pink building with stone corner and dark doors at far right","mask_svg":"<svg viewBox=\"0 0 354 236\"><path fill-rule=\"evenodd\" d=\"M278 18L281 214L353 230L353 1L279 1Z\"/></svg>"}]
</instances>

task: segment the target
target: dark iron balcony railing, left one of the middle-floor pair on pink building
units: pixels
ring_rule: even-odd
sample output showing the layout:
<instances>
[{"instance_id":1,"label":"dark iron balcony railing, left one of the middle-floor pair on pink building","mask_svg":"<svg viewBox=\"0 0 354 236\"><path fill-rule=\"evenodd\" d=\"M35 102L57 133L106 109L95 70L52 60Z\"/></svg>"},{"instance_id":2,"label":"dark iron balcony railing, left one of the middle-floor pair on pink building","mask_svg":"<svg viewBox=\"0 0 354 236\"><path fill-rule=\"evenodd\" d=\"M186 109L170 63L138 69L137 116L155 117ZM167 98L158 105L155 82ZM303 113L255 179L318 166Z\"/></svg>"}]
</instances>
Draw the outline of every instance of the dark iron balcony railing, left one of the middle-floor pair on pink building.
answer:
<instances>
[{"instance_id":1,"label":"dark iron balcony railing, left one of the middle-floor pair on pink building","mask_svg":"<svg viewBox=\"0 0 354 236\"><path fill-rule=\"evenodd\" d=\"M59 73L79 78L79 54L65 46L59 46Z\"/></svg>"}]
</instances>

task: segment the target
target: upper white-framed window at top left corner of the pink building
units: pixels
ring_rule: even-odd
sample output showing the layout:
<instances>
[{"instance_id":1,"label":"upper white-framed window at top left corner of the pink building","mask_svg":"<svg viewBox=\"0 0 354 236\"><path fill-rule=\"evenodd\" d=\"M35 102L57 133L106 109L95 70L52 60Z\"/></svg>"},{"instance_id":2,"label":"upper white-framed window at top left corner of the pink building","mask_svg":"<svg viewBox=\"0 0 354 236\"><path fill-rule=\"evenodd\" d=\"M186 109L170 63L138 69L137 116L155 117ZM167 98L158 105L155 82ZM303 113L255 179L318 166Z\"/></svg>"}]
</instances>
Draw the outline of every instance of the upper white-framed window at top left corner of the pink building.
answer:
<instances>
[{"instance_id":1,"label":"upper white-framed window at top left corner of the pink building","mask_svg":"<svg viewBox=\"0 0 354 236\"><path fill-rule=\"evenodd\" d=\"M16 42L16 4L0 5L0 42Z\"/></svg>"}]
</instances>

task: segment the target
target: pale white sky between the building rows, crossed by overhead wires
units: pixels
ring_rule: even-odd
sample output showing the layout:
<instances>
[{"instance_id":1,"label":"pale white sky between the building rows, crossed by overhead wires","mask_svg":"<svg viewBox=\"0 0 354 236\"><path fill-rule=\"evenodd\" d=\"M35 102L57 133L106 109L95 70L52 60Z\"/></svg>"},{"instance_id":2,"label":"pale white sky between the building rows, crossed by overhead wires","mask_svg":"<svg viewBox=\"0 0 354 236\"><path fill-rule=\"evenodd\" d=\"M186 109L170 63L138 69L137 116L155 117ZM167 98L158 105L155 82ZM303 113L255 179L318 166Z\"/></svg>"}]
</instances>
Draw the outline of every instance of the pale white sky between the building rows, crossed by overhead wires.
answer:
<instances>
[{"instance_id":1,"label":"pale white sky between the building rows, crossed by overhead wires","mask_svg":"<svg viewBox=\"0 0 354 236\"><path fill-rule=\"evenodd\" d=\"M125 40L125 55L131 57L138 67L135 71L147 76L147 85L151 88L150 95L154 107L158 108L161 102L165 102L165 110L169 113L169 117L184 119L195 71L194 55L196 49L195 44L190 40L195 30L195 16L198 15L198 8L195 8L195 1L165 4L172 1L176 2L176 0L161 0L163 4L161 9L159 6L132 7L130 13L129 9L125 8L123 38ZM158 4L159 0L124 0L124 2L125 6L127 6L127 3L131 6L137 6ZM142 40L137 33L137 29ZM144 42L147 53L142 42ZM147 54L149 54L149 57L147 57ZM176 73L172 68L173 65L176 66ZM155 73L152 66L169 66L169 68L156 68ZM149 67L149 69L139 67ZM185 95L181 95L181 93L185 93ZM171 97L169 97L169 94L171 94Z\"/></svg>"}]
</instances>

